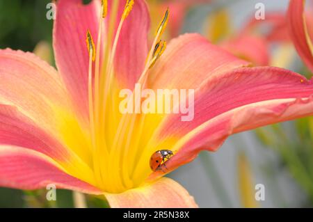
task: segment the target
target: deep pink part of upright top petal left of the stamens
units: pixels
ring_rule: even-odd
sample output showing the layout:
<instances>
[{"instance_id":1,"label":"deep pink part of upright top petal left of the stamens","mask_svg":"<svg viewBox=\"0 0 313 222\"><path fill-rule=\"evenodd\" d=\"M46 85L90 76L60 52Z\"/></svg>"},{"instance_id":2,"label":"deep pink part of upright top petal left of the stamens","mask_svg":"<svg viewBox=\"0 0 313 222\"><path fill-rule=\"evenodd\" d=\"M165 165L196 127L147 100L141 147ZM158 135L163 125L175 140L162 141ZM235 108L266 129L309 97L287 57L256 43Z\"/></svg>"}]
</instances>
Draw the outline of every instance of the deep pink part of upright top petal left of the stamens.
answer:
<instances>
[{"instance_id":1,"label":"deep pink part of upright top petal left of the stamens","mask_svg":"<svg viewBox=\"0 0 313 222\"><path fill-rule=\"evenodd\" d=\"M100 1L83 5L81 0L59 0L54 22L54 56L67 89L81 114L88 118L88 49L89 29L97 44Z\"/></svg>"}]
</instances>

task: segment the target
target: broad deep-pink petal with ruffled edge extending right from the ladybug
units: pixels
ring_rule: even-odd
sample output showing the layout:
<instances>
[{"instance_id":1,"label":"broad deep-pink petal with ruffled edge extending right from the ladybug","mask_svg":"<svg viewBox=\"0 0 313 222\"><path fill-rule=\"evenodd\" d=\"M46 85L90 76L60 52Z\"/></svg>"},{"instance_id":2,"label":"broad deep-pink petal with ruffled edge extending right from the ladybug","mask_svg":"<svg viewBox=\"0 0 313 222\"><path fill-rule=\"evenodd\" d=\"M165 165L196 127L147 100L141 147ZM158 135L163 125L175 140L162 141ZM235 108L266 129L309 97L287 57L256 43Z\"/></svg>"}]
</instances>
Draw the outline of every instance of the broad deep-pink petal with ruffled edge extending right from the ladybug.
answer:
<instances>
[{"instance_id":1,"label":"broad deep-pink petal with ruffled edge extending right from the ladybug","mask_svg":"<svg viewBox=\"0 0 313 222\"><path fill-rule=\"evenodd\" d=\"M161 125L160 145L180 138L171 148L178 152L166 167L186 164L200 150L217 150L230 134L310 116L312 95L312 81L280 68L239 68L219 75L195 92L192 121L182 122L180 114L172 114Z\"/></svg>"}]
</instances>

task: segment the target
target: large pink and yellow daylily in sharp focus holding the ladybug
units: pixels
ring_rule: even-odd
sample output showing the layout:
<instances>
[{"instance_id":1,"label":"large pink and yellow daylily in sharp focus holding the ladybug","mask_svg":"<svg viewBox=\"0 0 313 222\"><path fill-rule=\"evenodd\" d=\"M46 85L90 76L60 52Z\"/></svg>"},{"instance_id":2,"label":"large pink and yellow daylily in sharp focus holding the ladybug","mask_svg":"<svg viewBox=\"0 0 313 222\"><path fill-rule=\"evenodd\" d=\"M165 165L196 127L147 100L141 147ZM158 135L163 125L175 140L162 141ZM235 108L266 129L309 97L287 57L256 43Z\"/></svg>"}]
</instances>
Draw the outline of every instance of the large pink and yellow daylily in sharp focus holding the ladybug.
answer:
<instances>
[{"instance_id":1,"label":"large pink and yellow daylily in sharp focus holding the ladybug","mask_svg":"<svg viewBox=\"0 0 313 222\"><path fill-rule=\"evenodd\" d=\"M300 74L248 68L198 34L171 40L161 55L167 18L149 50L145 1L58 0L58 72L29 52L0 50L0 186L53 183L105 196L111 207L196 207L163 175L231 134L312 115L312 81ZM118 94L138 82L195 89L194 119L122 115ZM175 154L166 171L153 172L150 157L163 149Z\"/></svg>"}]
</instances>

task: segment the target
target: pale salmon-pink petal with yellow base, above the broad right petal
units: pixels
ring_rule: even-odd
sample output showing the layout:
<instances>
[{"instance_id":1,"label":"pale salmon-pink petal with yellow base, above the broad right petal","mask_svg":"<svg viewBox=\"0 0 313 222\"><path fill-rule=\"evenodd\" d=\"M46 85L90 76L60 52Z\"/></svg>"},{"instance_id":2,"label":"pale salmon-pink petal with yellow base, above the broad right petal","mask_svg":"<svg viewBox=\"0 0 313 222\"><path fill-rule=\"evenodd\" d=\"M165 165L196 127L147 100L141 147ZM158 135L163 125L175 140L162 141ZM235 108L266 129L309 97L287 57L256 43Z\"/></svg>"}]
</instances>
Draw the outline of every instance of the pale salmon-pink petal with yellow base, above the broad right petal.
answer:
<instances>
[{"instance_id":1,"label":"pale salmon-pink petal with yellow base, above the broad right petal","mask_svg":"<svg viewBox=\"0 0 313 222\"><path fill-rule=\"evenodd\" d=\"M188 55L188 56L186 56ZM243 61L229 52L212 45L206 38L198 34L185 34L172 40L159 61L150 70L148 87L157 89L193 89L200 88L209 79L214 79L224 72L249 65L248 61ZM141 136L141 146L149 148L141 152L141 159L135 170L142 177L139 169L147 169L146 159L158 147L155 145L154 136L156 129L166 115L147 114L143 124ZM179 119L180 122L180 119ZM160 148L170 148L177 138L170 138L170 143L163 143ZM162 148L162 149L163 149ZM148 169L149 170L149 169Z\"/></svg>"}]
</instances>

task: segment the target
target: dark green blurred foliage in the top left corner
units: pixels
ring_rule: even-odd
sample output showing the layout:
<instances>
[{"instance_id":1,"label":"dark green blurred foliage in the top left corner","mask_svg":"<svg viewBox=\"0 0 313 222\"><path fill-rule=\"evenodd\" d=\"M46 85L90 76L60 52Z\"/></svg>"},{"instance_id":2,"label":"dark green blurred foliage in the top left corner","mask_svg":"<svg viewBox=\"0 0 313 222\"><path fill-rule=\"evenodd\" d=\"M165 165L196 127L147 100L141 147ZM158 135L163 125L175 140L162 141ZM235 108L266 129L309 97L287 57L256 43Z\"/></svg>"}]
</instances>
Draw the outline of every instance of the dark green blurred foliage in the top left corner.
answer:
<instances>
[{"instance_id":1,"label":"dark green blurred foliage in the top left corner","mask_svg":"<svg viewBox=\"0 0 313 222\"><path fill-rule=\"evenodd\" d=\"M46 17L49 2L0 1L0 48L33 51L40 40L51 42L53 21Z\"/></svg>"}]
</instances>

